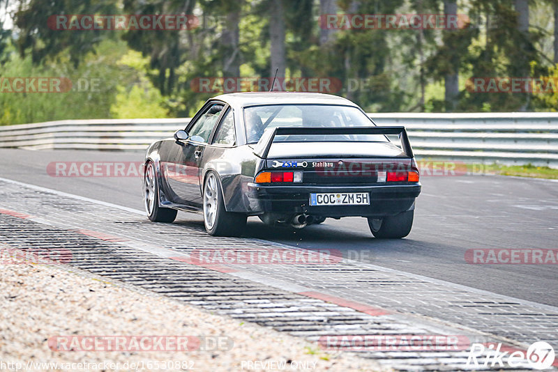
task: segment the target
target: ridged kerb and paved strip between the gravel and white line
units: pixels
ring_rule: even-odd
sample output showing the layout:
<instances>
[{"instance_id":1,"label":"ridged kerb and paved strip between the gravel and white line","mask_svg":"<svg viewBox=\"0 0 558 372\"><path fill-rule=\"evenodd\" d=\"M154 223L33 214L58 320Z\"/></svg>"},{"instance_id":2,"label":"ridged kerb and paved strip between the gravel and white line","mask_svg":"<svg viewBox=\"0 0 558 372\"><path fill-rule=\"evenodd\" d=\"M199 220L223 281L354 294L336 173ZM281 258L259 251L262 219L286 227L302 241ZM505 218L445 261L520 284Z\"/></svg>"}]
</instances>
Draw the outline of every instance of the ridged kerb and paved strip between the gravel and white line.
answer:
<instances>
[{"instance_id":1,"label":"ridged kerb and paved strip between the gravel and white line","mask_svg":"<svg viewBox=\"0 0 558 372\"><path fill-rule=\"evenodd\" d=\"M201 227L180 222L153 224L134 210L9 180L0 180L0 187L0 242L6 247L54 249L63 253L65 268L172 297L234 319L236 325L257 323L301 336L315 342L317 355L347 350L382 367L457 371L474 368L467 365L472 343L501 342L508 350L526 350L534 341L558 341L558 309L548 305L346 259L200 264L193 259L200 252L232 249L248 256L293 249L261 240L212 238ZM166 306L151 301L159 309ZM86 336L93 330L74 332ZM400 342L389 347L354 342L364 336L401 341L417 335L438 336L445 343L411 348ZM339 340L345 343L335 343ZM260 346L266 348L266 342ZM275 350L279 354L282 348ZM232 368L241 370L240 365Z\"/></svg>"}]
</instances>

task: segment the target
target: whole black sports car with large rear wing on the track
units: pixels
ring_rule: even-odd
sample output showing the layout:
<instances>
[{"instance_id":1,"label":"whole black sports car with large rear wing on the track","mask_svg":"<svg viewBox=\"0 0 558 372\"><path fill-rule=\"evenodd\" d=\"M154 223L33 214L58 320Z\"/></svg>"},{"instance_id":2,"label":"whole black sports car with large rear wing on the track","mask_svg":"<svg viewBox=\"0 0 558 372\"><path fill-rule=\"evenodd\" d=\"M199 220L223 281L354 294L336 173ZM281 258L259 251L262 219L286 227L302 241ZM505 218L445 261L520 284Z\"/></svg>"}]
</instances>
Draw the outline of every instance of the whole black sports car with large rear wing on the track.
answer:
<instances>
[{"instance_id":1,"label":"whole black sports car with large rear wing on the track","mask_svg":"<svg viewBox=\"0 0 558 372\"><path fill-rule=\"evenodd\" d=\"M202 212L211 235L241 235L248 216L295 228L361 216L375 237L402 238L421 192L405 127L319 93L219 95L151 144L144 165L149 219Z\"/></svg>"}]
</instances>

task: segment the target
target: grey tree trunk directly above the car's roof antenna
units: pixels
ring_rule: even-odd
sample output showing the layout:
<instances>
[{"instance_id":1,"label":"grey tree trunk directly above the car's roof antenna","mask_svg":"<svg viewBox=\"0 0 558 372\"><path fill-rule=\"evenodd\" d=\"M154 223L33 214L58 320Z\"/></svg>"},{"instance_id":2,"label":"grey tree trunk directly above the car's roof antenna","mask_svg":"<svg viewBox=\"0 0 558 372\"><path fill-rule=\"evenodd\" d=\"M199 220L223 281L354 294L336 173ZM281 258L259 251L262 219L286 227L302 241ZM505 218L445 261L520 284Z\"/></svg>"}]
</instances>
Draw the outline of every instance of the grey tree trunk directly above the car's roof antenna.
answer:
<instances>
[{"instance_id":1,"label":"grey tree trunk directly above the car's roof antenna","mask_svg":"<svg viewBox=\"0 0 558 372\"><path fill-rule=\"evenodd\" d=\"M269 8L269 34L271 40L271 77L285 77L285 11L281 0L271 0Z\"/></svg>"}]
</instances>

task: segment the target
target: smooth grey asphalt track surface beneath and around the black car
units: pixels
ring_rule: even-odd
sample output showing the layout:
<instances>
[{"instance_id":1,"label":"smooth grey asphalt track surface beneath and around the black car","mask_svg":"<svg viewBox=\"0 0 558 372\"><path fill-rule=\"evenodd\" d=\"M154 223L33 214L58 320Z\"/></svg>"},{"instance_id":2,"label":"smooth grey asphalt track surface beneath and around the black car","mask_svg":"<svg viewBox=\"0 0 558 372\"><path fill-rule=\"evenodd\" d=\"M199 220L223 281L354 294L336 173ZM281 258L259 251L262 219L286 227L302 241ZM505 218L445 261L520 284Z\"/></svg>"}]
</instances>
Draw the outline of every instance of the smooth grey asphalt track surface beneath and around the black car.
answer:
<instances>
[{"instance_id":1,"label":"smooth grey asphalt track surface beneath and around the black car","mask_svg":"<svg viewBox=\"0 0 558 372\"><path fill-rule=\"evenodd\" d=\"M52 162L141 162L143 153L0 149L0 177L143 209L139 177L55 177ZM53 166L53 164L51 164ZM303 230L252 217L246 237L347 257L493 293L558 306L558 265L467 263L468 249L558 249L558 182L504 176L425 176L412 232L372 238L363 218L327 219ZM1 206L1 201L0 201ZM203 224L179 213L175 223Z\"/></svg>"}]
</instances>

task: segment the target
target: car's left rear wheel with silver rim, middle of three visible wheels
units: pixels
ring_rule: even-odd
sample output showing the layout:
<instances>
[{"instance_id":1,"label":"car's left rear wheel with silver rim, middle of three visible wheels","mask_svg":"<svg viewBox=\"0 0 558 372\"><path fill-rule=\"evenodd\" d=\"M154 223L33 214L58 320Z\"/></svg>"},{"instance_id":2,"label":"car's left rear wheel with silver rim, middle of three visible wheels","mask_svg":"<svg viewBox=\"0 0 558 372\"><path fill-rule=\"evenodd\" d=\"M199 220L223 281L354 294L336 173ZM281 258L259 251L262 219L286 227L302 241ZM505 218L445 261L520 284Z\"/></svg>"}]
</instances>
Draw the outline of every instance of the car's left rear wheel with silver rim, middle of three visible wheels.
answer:
<instances>
[{"instance_id":1,"label":"car's left rear wheel with silver rim, middle of three visible wheels","mask_svg":"<svg viewBox=\"0 0 558 372\"><path fill-rule=\"evenodd\" d=\"M240 236L246 228L247 216L227 212L217 173L207 173L204 181L204 226L213 236Z\"/></svg>"}]
</instances>

